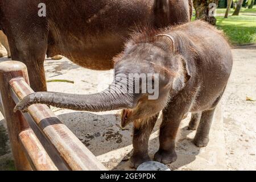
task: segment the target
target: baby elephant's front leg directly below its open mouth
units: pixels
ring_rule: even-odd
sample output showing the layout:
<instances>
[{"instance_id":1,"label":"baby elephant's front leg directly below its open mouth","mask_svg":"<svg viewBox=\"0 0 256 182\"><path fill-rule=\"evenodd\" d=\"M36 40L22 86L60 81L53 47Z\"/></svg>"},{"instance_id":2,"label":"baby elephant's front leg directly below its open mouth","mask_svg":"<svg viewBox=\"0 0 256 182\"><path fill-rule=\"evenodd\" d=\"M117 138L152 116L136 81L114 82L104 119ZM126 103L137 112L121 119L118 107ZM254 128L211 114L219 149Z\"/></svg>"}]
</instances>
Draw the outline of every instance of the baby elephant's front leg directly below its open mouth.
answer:
<instances>
[{"instance_id":1,"label":"baby elephant's front leg directly below its open mouth","mask_svg":"<svg viewBox=\"0 0 256 182\"><path fill-rule=\"evenodd\" d=\"M144 162L150 161L148 156L148 140L154 129L158 115L147 118L146 121L135 121L133 135L133 156L130 158L130 167L138 168Z\"/></svg>"}]
</instances>

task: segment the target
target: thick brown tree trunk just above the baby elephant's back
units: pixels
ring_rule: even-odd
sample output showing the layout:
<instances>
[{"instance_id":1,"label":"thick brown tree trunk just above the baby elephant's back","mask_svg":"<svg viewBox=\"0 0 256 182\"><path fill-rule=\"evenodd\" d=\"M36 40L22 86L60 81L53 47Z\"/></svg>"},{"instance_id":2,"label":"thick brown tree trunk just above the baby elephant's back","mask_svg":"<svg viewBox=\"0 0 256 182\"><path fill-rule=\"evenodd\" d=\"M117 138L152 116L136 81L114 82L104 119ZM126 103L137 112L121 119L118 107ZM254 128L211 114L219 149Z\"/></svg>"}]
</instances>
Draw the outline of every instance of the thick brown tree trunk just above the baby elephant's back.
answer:
<instances>
[{"instance_id":1,"label":"thick brown tree trunk just above the baby elephant's back","mask_svg":"<svg viewBox=\"0 0 256 182\"><path fill-rule=\"evenodd\" d=\"M215 3L216 7L218 5L218 0L194 0L193 4L196 9L196 19L204 20L210 24L216 25L216 18L214 17L212 12L212 8L210 7L210 3Z\"/></svg>"}]
</instances>

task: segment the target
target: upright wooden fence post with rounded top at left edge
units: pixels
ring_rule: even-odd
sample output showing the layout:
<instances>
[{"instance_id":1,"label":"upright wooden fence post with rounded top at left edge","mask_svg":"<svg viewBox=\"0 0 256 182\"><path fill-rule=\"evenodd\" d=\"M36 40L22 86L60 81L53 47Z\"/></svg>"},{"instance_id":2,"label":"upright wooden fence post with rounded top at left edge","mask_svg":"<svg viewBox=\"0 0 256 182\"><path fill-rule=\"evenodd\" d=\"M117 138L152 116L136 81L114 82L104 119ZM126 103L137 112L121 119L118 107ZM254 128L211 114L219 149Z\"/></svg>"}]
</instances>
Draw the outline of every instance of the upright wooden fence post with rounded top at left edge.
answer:
<instances>
[{"instance_id":1,"label":"upright wooden fence post with rounded top at left edge","mask_svg":"<svg viewBox=\"0 0 256 182\"><path fill-rule=\"evenodd\" d=\"M2 105L5 120L8 127L11 149L15 160L17 170L31 170L30 163L23 151L19 140L20 132L29 129L27 121L19 112L14 113L15 102L11 97L10 80L23 77L28 83L28 74L26 65L18 61L4 61L0 63L0 90L2 96Z\"/></svg>"}]
</instances>

